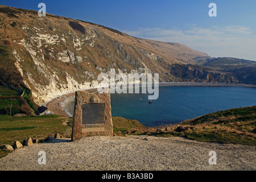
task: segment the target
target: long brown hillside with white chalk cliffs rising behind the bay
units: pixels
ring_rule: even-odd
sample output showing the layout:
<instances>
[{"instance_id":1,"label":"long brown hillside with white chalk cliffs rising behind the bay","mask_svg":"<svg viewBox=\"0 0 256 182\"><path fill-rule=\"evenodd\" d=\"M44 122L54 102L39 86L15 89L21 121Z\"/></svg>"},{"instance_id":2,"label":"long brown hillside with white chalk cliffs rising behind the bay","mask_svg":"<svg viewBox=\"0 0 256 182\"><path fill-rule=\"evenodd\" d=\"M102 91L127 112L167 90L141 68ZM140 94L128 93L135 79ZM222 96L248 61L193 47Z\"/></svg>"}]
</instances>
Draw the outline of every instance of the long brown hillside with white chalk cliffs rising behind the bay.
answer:
<instances>
[{"instance_id":1,"label":"long brown hillside with white chalk cliffs rising behind the bay","mask_svg":"<svg viewBox=\"0 0 256 182\"><path fill-rule=\"evenodd\" d=\"M35 104L94 88L97 76L110 69L159 73L160 82L255 84L255 64L221 64L183 44L134 38L83 20L39 17L37 11L7 6L0 6L0 19L0 68L22 77L19 85L31 90Z\"/></svg>"}]
</instances>

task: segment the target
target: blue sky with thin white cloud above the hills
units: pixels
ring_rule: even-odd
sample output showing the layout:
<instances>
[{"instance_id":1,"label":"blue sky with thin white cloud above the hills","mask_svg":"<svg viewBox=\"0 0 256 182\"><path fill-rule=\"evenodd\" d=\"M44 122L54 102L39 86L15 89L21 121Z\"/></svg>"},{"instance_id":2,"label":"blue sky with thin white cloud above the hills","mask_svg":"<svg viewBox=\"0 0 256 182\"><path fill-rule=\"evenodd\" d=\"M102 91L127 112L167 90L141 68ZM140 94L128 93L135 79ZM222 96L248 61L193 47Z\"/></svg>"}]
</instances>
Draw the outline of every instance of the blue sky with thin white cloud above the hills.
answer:
<instances>
[{"instance_id":1,"label":"blue sky with thin white cloud above the hills","mask_svg":"<svg viewBox=\"0 0 256 182\"><path fill-rule=\"evenodd\" d=\"M115 28L139 38L183 43L213 57L256 61L255 0L2 1L1 5L39 10ZM216 3L217 16L208 7Z\"/></svg>"}]
</instances>

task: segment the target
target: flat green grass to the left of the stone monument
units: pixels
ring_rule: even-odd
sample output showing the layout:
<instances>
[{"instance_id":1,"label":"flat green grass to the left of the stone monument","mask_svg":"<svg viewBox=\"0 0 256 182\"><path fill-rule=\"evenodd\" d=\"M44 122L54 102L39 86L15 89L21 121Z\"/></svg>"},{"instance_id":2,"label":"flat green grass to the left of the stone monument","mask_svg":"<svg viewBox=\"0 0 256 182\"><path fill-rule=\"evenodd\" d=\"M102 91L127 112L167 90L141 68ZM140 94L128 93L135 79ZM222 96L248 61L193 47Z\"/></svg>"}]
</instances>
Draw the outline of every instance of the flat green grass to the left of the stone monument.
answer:
<instances>
[{"instance_id":1,"label":"flat green grass to the left of the stone monument","mask_svg":"<svg viewBox=\"0 0 256 182\"><path fill-rule=\"evenodd\" d=\"M63 125L67 122L67 126ZM42 115L36 117L10 117L0 116L0 146L10 144L14 141L31 137L32 139L46 139L59 133L62 137L71 138L72 118L64 118L60 115ZM0 147L1 148L1 147ZM7 151L0 150L0 158L7 155Z\"/></svg>"}]
</instances>

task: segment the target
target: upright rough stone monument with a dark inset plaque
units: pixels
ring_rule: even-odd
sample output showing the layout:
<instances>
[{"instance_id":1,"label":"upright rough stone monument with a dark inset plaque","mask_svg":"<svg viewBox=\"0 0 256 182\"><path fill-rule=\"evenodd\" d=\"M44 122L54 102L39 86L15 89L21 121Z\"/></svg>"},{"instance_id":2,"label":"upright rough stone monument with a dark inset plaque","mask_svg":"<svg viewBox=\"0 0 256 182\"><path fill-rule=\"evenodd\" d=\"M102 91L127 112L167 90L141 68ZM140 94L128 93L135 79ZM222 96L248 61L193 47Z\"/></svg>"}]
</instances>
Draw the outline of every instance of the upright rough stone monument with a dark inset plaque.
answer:
<instances>
[{"instance_id":1,"label":"upright rough stone monument with a dark inset plaque","mask_svg":"<svg viewBox=\"0 0 256 182\"><path fill-rule=\"evenodd\" d=\"M113 136L110 93L76 92L72 141L90 136Z\"/></svg>"}]
</instances>

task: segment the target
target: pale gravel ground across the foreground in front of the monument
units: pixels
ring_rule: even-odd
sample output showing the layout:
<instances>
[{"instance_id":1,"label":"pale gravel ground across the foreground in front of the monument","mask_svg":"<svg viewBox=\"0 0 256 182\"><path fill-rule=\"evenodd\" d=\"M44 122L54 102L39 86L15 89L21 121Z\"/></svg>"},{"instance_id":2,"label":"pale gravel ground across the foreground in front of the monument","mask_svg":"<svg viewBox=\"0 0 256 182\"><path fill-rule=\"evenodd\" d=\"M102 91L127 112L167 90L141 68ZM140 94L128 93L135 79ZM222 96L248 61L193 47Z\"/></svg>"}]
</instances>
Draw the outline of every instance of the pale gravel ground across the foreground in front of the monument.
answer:
<instances>
[{"instance_id":1,"label":"pale gravel ground across the foreground in front of the monument","mask_svg":"<svg viewBox=\"0 0 256 182\"><path fill-rule=\"evenodd\" d=\"M38 152L46 152L39 165ZM217 164L209 165L216 151ZM256 147L196 142L179 137L87 137L54 139L15 150L0 159L0 170L255 170Z\"/></svg>"}]
</instances>

